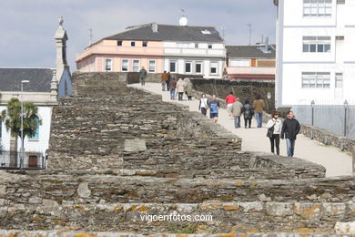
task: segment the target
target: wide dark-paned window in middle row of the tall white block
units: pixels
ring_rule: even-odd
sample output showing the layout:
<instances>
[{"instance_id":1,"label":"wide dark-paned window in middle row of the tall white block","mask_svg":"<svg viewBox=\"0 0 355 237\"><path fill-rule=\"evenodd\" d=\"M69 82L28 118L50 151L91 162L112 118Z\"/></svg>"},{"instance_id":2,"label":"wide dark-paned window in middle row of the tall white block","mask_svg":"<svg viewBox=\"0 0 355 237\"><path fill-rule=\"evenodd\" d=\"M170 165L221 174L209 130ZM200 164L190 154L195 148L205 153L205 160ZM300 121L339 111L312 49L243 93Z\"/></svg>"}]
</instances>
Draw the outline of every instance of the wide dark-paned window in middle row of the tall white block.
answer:
<instances>
[{"instance_id":1,"label":"wide dark-paned window in middle row of the tall white block","mask_svg":"<svg viewBox=\"0 0 355 237\"><path fill-rule=\"evenodd\" d=\"M303 36L304 53L329 53L330 36Z\"/></svg>"}]
</instances>

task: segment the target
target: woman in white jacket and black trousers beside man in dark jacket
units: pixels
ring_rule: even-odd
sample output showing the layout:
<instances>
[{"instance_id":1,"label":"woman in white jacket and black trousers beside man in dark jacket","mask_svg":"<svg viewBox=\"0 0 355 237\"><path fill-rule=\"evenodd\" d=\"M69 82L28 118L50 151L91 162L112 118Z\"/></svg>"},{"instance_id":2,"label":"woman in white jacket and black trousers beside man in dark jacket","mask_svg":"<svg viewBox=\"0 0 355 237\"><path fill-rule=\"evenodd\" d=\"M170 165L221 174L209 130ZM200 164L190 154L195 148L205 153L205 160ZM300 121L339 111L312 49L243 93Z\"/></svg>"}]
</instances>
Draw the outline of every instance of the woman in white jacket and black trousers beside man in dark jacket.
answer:
<instances>
[{"instance_id":1,"label":"woman in white jacket and black trousers beside man in dark jacket","mask_svg":"<svg viewBox=\"0 0 355 237\"><path fill-rule=\"evenodd\" d=\"M279 118L278 111L274 111L271 114L271 118L269 119L266 128L268 129L267 136L270 139L271 152L275 153L276 147L276 154L279 155L279 134L281 133L282 121Z\"/></svg>"}]
</instances>

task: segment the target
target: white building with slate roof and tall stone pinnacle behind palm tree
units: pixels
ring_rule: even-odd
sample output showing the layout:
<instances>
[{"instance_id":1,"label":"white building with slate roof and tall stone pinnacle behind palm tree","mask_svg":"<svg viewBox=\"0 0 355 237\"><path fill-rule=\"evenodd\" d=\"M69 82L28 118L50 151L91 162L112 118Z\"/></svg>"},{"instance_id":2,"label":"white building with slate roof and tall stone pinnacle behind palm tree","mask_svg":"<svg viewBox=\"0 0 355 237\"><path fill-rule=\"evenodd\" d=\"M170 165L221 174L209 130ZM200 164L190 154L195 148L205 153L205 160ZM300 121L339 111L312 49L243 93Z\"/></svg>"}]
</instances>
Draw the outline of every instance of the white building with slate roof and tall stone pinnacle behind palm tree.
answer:
<instances>
[{"instance_id":1,"label":"white building with slate roof and tall stone pinnacle behind palm tree","mask_svg":"<svg viewBox=\"0 0 355 237\"><path fill-rule=\"evenodd\" d=\"M26 68L26 67L0 67L0 112L6 109L11 98L18 98L20 101L33 102L38 107L36 118L42 120L37 126L35 136L25 137L25 159L27 165L34 157L32 153L45 155L49 147L50 127L52 108L57 105L57 99L71 95L71 76L69 67L66 64L66 30L62 26L63 19L59 20L59 27L56 31L56 68ZM22 83L23 81L27 81ZM23 92L21 92L23 84ZM5 151L20 151L21 139L11 136L10 130L5 127L5 122L0 119L0 143ZM2 152L3 153L3 152ZM0 156L1 166L7 165L9 160ZM5 160L4 160L5 159ZM37 160L40 162L40 160ZM12 160L14 162L14 160ZM26 164L26 160L25 160ZM18 161L17 161L18 165ZM32 165L34 165L32 161Z\"/></svg>"}]
</instances>

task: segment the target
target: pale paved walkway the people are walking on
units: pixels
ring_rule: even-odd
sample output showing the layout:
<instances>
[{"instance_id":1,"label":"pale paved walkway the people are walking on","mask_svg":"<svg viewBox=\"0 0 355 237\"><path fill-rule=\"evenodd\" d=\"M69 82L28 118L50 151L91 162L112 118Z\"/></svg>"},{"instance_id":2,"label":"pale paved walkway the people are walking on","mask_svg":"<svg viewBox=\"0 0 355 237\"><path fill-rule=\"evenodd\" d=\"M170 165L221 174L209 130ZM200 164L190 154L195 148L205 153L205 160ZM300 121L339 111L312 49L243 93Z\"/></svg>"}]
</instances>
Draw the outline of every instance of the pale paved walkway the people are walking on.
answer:
<instances>
[{"instance_id":1,"label":"pale paved walkway the people are walking on","mask_svg":"<svg viewBox=\"0 0 355 237\"><path fill-rule=\"evenodd\" d=\"M163 101L181 103L189 106L190 111L198 111L198 99L194 98L188 101L184 95L184 101L170 100L168 91L161 91L160 83L146 83L145 87L140 84L129 85L134 88L144 88L155 94L161 94ZM209 110L208 110L209 112ZM244 119L241 119L241 126L244 127ZM270 152L269 139L266 137L267 129L265 124L263 128L257 129L257 121L253 118L251 129L235 129L233 118L228 117L226 109L220 108L218 113L218 123L229 131L243 139L242 150ZM323 165L327 169L327 177L351 175L352 159L349 153L342 152L340 149L332 146L324 146L316 140L311 140L303 135L299 135L296 140L295 157L309 160L311 162ZM286 142L280 140L280 155L286 156Z\"/></svg>"}]
</instances>

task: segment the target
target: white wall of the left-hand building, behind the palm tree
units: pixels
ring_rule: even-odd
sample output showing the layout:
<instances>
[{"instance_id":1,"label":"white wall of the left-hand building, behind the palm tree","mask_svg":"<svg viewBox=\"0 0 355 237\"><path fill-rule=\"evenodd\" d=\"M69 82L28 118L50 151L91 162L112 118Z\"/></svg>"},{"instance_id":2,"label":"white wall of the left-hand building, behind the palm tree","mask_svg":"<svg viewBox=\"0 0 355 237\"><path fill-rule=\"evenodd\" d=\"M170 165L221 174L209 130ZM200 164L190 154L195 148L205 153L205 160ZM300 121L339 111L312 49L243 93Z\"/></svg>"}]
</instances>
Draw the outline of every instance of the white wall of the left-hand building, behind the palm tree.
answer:
<instances>
[{"instance_id":1,"label":"white wall of the left-hand building, behind the palm tree","mask_svg":"<svg viewBox=\"0 0 355 237\"><path fill-rule=\"evenodd\" d=\"M0 111L6 109L5 106L0 106ZM38 117L42 119L42 125L39 126L39 137L36 140L25 138L25 151L42 152L45 154L49 147L50 126L52 118L52 108L38 106ZM10 150L10 130L6 131L4 122L2 123L2 139L1 143L5 150ZM18 151L21 149L21 139L17 143Z\"/></svg>"}]
</instances>

